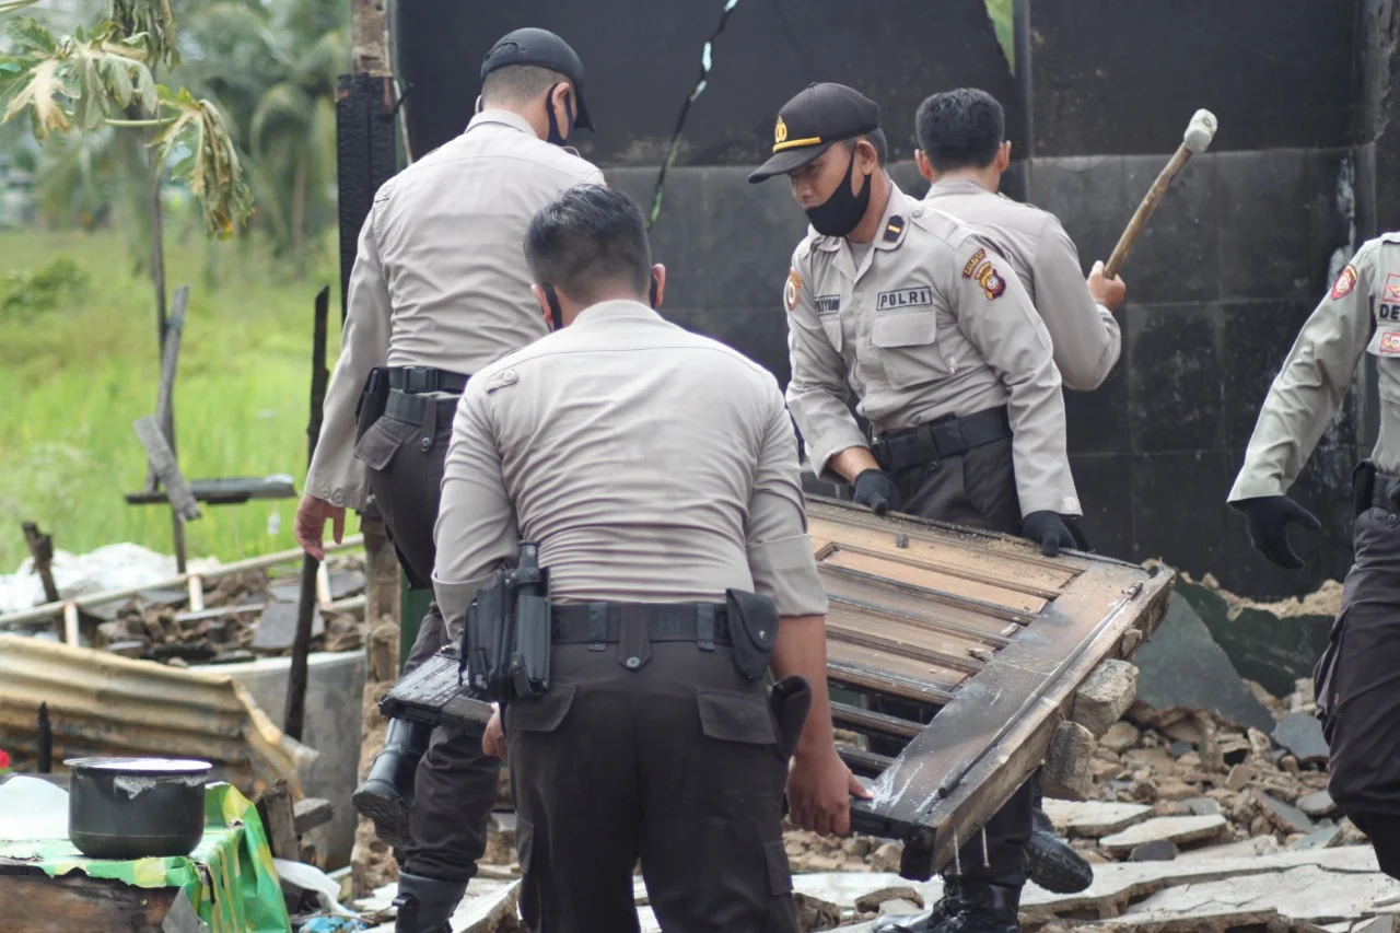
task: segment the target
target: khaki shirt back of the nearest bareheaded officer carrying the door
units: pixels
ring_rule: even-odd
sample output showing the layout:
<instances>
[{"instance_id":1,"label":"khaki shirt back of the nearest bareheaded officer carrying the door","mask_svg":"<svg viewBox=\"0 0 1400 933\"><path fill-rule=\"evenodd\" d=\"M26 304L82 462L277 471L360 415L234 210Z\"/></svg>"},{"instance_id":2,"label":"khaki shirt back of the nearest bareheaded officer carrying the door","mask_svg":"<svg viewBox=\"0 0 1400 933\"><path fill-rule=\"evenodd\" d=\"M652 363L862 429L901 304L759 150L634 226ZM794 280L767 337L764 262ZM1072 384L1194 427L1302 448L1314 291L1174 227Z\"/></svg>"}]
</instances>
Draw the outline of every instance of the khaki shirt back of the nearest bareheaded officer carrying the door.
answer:
<instances>
[{"instance_id":1,"label":"khaki shirt back of the nearest bareheaded officer carrying the door","mask_svg":"<svg viewBox=\"0 0 1400 933\"><path fill-rule=\"evenodd\" d=\"M468 384L435 539L449 621L521 539L560 602L734 587L826 612L777 381L636 301L596 304Z\"/></svg>"}]
</instances>

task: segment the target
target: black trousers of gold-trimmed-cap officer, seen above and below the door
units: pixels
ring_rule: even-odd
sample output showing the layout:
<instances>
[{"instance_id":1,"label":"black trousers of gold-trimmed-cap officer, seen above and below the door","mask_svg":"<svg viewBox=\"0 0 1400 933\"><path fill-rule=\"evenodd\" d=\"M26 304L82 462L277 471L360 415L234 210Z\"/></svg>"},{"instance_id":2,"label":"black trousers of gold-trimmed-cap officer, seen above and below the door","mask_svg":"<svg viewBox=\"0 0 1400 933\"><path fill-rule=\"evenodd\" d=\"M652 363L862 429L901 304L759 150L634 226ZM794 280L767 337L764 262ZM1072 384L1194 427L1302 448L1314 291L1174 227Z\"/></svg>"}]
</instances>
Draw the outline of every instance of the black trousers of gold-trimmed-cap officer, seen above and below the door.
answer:
<instances>
[{"instance_id":1,"label":"black trousers of gold-trimmed-cap officer, seen above and below the door","mask_svg":"<svg viewBox=\"0 0 1400 933\"><path fill-rule=\"evenodd\" d=\"M911 516L984 531L1021 532L1021 500L1016 495L1009 438L974 447L937 466L930 464L909 466L895 474L895 482L904 499L904 511ZM895 714L910 714L907 709L896 710L888 700L883 707ZM927 710L930 714L931 712ZM928 721L927 716L924 721ZM893 754L897 751L893 749ZM983 834L963 843L958 860L944 869L944 877L956 876L963 881L995 878L1002 884L1025 883L1025 849L1030 842L1035 811L1033 783L1035 778L1022 785L1011 800L993 814ZM960 876L958 876L959 867Z\"/></svg>"}]
</instances>

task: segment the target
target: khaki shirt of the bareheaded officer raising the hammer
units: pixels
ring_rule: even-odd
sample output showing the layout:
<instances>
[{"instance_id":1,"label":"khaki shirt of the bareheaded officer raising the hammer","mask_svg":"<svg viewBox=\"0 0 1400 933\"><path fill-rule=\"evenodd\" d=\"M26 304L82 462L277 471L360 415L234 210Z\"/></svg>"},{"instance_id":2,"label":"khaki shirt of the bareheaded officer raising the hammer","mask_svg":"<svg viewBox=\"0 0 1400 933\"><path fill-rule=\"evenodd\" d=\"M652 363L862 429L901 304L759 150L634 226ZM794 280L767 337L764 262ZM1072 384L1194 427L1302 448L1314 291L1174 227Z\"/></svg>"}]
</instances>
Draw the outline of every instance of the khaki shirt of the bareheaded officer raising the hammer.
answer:
<instances>
[{"instance_id":1,"label":"khaki shirt of the bareheaded officer raising the hammer","mask_svg":"<svg viewBox=\"0 0 1400 933\"><path fill-rule=\"evenodd\" d=\"M1123 336L1113 312L1089 294L1079 252L1056 216L965 178L937 182L924 203L991 240L1011 262L1046 322L1065 388L1099 388L1119 361Z\"/></svg>"}]
</instances>

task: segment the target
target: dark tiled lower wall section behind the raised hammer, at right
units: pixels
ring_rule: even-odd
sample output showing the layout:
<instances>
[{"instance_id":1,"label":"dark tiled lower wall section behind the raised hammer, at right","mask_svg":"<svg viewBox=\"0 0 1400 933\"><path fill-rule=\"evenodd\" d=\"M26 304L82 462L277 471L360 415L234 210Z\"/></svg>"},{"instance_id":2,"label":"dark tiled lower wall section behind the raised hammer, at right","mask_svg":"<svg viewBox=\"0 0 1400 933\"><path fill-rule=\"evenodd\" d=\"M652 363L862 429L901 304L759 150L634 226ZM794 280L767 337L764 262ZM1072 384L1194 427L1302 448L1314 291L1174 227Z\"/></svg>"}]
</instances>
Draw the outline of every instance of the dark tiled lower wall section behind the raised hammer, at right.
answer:
<instances>
[{"instance_id":1,"label":"dark tiled lower wall section behind the raised hammer, at right","mask_svg":"<svg viewBox=\"0 0 1400 933\"><path fill-rule=\"evenodd\" d=\"M1106 256L1166 156L1036 158L1030 200L1054 212L1088 266ZM1225 497L1259 408L1299 328L1350 255L1350 150L1193 158L1127 263L1119 367L1067 392L1070 447L1095 545L1214 573L1250 595L1303 593L1351 563L1357 394L1295 495L1324 523L1296 537L1301 574L1249 546Z\"/></svg>"}]
</instances>

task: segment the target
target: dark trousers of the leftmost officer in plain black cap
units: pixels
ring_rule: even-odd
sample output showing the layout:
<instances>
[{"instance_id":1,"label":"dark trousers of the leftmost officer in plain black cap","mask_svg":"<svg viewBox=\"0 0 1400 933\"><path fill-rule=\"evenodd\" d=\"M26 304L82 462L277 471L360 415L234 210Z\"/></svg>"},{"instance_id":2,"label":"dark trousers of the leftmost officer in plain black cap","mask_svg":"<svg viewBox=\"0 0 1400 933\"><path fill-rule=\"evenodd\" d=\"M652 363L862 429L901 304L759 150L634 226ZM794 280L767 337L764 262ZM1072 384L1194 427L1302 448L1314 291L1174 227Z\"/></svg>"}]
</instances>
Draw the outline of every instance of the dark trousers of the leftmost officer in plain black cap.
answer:
<instances>
[{"instance_id":1,"label":"dark trousers of the leftmost officer in plain black cap","mask_svg":"<svg viewBox=\"0 0 1400 933\"><path fill-rule=\"evenodd\" d=\"M441 500L442 466L452 423L437 423L427 405L421 424L381 417L356 444L385 530L414 588L431 586L437 549L433 524ZM419 628L406 664L413 670L447 643L437 602ZM403 870L438 881L469 881L486 852L486 828L496 804L501 762L482 751L479 737L437 728L419 762L409 813L412 845Z\"/></svg>"}]
</instances>

